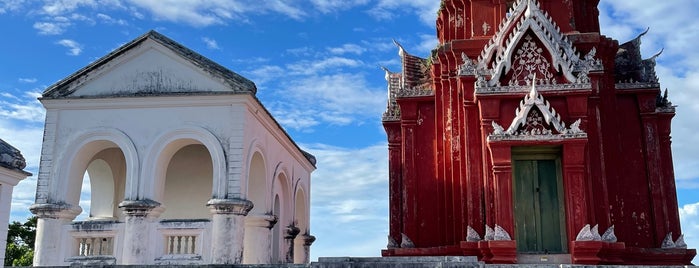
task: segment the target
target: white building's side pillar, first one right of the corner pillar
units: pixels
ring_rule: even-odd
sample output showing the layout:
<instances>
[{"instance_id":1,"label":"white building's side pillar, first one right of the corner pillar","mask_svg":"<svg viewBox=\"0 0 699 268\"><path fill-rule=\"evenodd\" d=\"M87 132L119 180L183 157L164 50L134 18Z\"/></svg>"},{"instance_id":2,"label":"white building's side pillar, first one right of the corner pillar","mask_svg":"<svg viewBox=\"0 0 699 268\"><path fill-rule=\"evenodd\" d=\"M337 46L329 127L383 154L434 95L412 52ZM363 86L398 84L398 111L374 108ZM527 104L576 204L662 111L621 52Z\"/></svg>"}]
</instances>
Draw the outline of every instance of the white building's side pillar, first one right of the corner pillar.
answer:
<instances>
[{"instance_id":1,"label":"white building's side pillar, first one right of the corner pillar","mask_svg":"<svg viewBox=\"0 0 699 268\"><path fill-rule=\"evenodd\" d=\"M277 216L274 215L250 215L245 218L244 264L272 263L270 230L276 223Z\"/></svg>"}]
</instances>

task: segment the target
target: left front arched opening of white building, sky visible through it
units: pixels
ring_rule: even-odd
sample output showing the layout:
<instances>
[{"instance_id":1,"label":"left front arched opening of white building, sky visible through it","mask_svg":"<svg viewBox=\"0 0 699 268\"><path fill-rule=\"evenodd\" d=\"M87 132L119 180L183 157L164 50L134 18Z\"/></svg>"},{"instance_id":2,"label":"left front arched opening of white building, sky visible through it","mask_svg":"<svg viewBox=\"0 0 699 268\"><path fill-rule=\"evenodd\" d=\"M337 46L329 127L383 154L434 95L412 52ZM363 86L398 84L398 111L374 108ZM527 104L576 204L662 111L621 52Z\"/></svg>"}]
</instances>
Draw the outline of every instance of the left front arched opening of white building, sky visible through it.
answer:
<instances>
[{"instance_id":1,"label":"left front arched opening of white building, sky visible through it","mask_svg":"<svg viewBox=\"0 0 699 268\"><path fill-rule=\"evenodd\" d=\"M126 184L126 161L124 153L119 148L95 149L89 148L106 145L98 142L86 145L81 155L76 158L90 159L84 164L82 181L79 192L78 205L82 213L75 220L119 220L123 219L118 208L119 202L124 199ZM111 144L114 146L114 144ZM99 146L102 147L102 146ZM92 150L91 150L92 149ZM90 151L98 151L92 157ZM74 163L78 164L78 163ZM83 164L79 164L83 166ZM77 188L75 186L71 188Z\"/></svg>"}]
</instances>

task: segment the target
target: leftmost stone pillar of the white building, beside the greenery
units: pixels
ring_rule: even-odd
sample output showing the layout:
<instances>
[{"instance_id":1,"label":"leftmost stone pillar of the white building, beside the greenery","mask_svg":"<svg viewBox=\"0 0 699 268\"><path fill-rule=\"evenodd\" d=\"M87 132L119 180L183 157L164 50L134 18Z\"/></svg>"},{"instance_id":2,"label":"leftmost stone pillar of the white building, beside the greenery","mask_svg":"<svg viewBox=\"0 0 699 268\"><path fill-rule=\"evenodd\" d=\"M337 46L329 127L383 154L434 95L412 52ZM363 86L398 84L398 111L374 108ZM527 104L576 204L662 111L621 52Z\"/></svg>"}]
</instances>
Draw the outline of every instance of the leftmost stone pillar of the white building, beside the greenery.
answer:
<instances>
[{"instance_id":1,"label":"leftmost stone pillar of the white building, beside the greenery","mask_svg":"<svg viewBox=\"0 0 699 268\"><path fill-rule=\"evenodd\" d=\"M34 204L29 210L37 217L34 266L65 265L62 227L82 212L69 204Z\"/></svg>"}]
</instances>

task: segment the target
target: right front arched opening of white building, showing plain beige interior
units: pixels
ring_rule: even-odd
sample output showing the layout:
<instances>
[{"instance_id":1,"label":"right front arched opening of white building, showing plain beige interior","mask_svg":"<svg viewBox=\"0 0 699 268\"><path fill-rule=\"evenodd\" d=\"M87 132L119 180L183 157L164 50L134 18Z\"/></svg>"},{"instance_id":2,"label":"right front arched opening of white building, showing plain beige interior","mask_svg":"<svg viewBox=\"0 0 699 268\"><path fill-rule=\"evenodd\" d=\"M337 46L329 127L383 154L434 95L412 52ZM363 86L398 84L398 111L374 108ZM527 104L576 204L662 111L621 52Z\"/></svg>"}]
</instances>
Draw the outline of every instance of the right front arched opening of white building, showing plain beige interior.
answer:
<instances>
[{"instance_id":1,"label":"right front arched opening of white building, showing plain beige interior","mask_svg":"<svg viewBox=\"0 0 699 268\"><path fill-rule=\"evenodd\" d=\"M173 146L176 146L173 144ZM175 148L171 148L175 151ZM209 219L206 202L211 198L213 165L211 154L201 144L177 149L165 169L161 219Z\"/></svg>"}]
</instances>

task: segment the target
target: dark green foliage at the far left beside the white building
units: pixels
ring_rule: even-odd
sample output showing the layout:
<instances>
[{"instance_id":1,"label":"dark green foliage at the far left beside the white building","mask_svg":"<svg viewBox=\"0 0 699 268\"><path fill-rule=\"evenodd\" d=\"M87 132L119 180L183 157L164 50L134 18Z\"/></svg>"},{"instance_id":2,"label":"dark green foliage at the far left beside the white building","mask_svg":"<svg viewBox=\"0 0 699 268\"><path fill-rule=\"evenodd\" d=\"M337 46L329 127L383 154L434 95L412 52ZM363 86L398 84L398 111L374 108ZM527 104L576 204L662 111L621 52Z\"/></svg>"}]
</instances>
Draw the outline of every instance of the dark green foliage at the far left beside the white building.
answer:
<instances>
[{"instance_id":1,"label":"dark green foliage at the far left beside the white building","mask_svg":"<svg viewBox=\"0 0 699 268\"><path fill-rule=\"evenodd\" d=\"M34 258L34 239L36 237L36 217L25 223L13 221L7 230L7 248L5 249L5 266L31 266Z\"/></svg>"}]
</instances>

